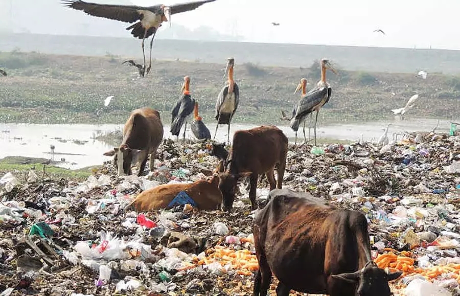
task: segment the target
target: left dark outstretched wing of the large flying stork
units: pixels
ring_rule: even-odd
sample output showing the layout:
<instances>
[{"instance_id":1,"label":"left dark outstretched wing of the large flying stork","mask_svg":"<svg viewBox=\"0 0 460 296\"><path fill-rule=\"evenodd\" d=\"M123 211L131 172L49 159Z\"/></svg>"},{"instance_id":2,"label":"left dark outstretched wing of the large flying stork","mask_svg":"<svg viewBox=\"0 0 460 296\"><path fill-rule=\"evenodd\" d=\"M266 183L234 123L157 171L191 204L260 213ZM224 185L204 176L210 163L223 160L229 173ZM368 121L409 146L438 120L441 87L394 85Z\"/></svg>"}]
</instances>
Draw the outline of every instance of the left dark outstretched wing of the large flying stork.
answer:
<instances>
[{"instance_id":1,"label":"left dark outstretched wing of the large flying stork","mask_svg":"<svg viewBox=\"0 0 460 296\"><path fill-rule=\"evenodd\" d=\"M111 5L111 4L97 4L88 3L81 0L63 0L63 4L67 7L82 10L89 15L105 17L114 20L120 20L125 22L134 22L141 19L141 15L137 10L146 10L142 6L127 6L127 5ZM159 9L159 6L149 7Z\"/></svg>"}]
</instances>

